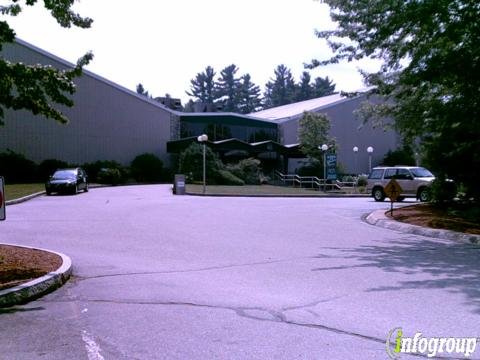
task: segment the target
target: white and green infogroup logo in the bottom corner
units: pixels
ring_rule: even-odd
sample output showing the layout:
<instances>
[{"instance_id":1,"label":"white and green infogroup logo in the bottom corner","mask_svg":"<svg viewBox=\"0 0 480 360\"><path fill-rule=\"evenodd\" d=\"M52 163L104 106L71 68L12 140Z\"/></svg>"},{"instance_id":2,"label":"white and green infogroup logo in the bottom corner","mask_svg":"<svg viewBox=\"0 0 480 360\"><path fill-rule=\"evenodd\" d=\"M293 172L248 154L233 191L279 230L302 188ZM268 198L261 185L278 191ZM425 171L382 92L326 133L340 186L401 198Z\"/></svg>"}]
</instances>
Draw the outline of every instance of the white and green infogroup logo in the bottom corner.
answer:
<instances>
[{"instance_id":1,"label":"white and green infogroup logo in the bottom corner","mask_svg":"<svg viewBox=\"0 0 480 360\"><path fill-rule=\"evenodd\" d=\"M462 354L469 357L475 352L477 338L458 337L423 337L421 332L416 332L413 337L403 335L400 327L390 330L387 336L387 354L392 359L400 358L402 353L423 354L427 357L434 357L438 354Z\"/></svg>"}]
</instances>

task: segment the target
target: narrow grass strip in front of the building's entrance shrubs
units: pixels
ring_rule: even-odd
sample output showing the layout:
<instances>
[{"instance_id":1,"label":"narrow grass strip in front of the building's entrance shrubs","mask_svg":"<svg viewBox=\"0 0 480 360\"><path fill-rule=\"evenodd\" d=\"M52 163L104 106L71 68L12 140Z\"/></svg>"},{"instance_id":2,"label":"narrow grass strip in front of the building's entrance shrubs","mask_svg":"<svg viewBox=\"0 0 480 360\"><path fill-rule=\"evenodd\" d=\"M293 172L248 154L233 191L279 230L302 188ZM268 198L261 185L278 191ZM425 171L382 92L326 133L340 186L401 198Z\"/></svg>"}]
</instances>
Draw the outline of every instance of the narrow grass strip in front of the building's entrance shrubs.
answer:
<instances>
[{"instance_id":1,"label":"narrow grass strip in front of the building's entrance shrubs","mask_svg":"<svg viewBox=\"0 0 480 360\"><path fill-rule=\"evenodd\" d=\"M202 185L187 184L186 190L188 193L201 194L203 191ZM348 189L351 190L351 189ZM342 191L328 193L353 193L353 191ZM358 193L358 192L357 192ZM296 195L296 196L325 196L323 191L308 188L295 188L287 186L274 185L244 185L244 186L227 186L227 185L207 185L206 194L219 195Z\"/></svg>"}]
</instances>

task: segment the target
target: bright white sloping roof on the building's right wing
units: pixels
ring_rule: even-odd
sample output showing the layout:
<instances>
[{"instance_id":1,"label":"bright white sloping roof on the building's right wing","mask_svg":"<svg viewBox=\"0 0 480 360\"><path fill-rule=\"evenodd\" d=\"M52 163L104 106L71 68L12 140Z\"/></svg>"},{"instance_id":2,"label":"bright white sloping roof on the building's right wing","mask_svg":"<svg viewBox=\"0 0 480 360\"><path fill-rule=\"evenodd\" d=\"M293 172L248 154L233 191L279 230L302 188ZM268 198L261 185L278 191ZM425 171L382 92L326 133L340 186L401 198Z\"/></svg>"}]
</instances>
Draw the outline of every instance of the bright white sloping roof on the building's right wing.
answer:
<instances>
[{"instance_id":1,"label":"bright white sloping roof on the building's right wing","mask_svg":"<svg viewBox=\"0 0 480 360\"><path fill-rule=\"evenodd\" d=\"M305 111L317 112L330 106L350 101L354 98L346 97L342 94L333 94L322 96L316 99L300 101L293 104L277 106L271 109L257 111L249 115L272 122L283 122L286 120L299 118Z\"/></svg>"}]
</instances>

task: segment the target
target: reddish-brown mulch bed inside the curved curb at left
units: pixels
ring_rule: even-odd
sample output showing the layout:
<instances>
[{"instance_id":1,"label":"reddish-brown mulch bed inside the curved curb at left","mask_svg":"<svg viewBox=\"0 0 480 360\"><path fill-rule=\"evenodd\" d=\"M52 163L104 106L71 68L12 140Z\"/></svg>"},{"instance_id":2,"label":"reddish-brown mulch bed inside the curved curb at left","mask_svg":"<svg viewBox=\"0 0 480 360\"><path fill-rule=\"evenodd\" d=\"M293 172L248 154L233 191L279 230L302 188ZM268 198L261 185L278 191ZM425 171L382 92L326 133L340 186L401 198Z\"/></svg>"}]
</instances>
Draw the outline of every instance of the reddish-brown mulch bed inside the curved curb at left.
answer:
<instances>
[{"instance_id":1,"label":"reddish-brown mulch bed inside the curved curb at left","mask_svg":"<svg viewBox=\"0 0 480 360\"><path fill-rule=\"evenodd\" d=\"M0 290L33 280L62 265L62 258L46 251L0 244Z\"/></svg>"}]
</instances>

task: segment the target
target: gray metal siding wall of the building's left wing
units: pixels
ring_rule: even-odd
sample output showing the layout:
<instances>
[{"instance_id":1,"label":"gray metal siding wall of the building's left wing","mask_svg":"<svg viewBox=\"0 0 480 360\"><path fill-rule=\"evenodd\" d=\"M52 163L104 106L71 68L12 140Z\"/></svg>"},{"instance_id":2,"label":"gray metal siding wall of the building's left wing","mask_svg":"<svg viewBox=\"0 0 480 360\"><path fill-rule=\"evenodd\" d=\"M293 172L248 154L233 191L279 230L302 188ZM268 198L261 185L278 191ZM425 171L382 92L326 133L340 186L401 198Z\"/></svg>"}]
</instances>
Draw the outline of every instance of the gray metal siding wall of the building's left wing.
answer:
<instances>
[{"instance_id":1,"label":"gray metal siding wall of the building's left wing","mask_svg":"<svg viewBox=\"0 0 480 360\"><path fill-rule=\"evenodd\" d=\"M52 64L52 58L23 45L6 46L2 55L12 61ZM67 125L34 116L27 111L5 114L0 127L0 151L11 149L36 162L59 159L71 163L116 160L128 164L150 152L168 163L171 113L84 74L76 80L72 108L64 108Z\"/></svg>"}]
</instances>

